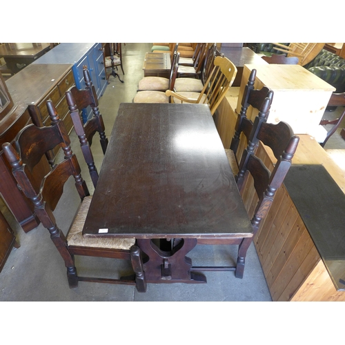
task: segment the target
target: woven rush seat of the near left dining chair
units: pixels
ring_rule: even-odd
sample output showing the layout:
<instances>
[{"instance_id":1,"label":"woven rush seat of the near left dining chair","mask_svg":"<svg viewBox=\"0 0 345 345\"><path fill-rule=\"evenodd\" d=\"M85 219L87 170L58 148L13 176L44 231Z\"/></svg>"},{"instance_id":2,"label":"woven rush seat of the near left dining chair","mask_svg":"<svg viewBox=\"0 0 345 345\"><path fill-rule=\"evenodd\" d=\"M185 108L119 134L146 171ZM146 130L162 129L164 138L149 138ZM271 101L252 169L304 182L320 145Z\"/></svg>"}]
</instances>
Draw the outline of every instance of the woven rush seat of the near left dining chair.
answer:
<instances>
[{"instance_id":1,"label":"woven rush seat of the near left dining chair","mask_svg":"<svg viewBox=\"0 0 345 345\"><path fill-rule=\"evenodd\" d=\"M86 215L90 208L92 197L85 197L81 202L80 208L77 212L75 220L70 227L67 235L68 246L85 246L95 248L111 248L111 249L124 249L129 250L134 246L134 238L104 238L104 237L83 237L82 230L85 224Z\"/></svg>"}]
</instances>

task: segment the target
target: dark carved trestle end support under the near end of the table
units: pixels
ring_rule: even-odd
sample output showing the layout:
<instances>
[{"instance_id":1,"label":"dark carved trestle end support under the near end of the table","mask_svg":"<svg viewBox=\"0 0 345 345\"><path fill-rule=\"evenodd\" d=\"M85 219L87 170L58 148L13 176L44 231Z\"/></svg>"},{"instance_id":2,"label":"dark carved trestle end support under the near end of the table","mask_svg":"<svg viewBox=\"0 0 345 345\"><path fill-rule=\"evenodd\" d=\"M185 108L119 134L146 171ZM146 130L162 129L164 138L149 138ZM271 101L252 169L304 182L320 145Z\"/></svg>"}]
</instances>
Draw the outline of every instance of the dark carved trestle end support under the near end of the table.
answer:
<instances>
[{"instance_id":1,"label":"dark carved trestle end support under the near end of the table","mask_svg":"<svg viewBox=\"0 0 345 345\"><path fill-rule=\"evenodd\" d=\"M186 257L197 239L182 239L170 251L161 250L152 239L137 239L139 248L148 255L144 261L145 280L148 283L206 283L205 275L190 272L192 260Z\"/></svg>"}]
</instances>

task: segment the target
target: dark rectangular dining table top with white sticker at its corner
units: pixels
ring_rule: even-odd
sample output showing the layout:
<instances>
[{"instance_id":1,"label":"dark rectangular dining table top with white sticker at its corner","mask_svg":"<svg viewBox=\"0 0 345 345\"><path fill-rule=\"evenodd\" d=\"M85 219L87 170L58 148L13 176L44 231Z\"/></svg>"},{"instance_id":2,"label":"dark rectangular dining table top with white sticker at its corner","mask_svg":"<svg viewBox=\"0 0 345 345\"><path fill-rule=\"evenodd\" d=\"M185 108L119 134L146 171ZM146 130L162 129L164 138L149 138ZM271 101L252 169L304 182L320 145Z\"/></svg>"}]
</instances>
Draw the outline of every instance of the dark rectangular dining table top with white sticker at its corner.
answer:
<instances>
[{"instance_id":1,"label":"dark rectangular dining table top with white sticker at its corner","mask_svg":"<svg viewBox=\"0 0 345 345\"><path fill-rule=\"evenodd\" d=\"M83 228L84 236L99 233L252 233L208 106L121 103Z\"/></svg>"}]
</instances>

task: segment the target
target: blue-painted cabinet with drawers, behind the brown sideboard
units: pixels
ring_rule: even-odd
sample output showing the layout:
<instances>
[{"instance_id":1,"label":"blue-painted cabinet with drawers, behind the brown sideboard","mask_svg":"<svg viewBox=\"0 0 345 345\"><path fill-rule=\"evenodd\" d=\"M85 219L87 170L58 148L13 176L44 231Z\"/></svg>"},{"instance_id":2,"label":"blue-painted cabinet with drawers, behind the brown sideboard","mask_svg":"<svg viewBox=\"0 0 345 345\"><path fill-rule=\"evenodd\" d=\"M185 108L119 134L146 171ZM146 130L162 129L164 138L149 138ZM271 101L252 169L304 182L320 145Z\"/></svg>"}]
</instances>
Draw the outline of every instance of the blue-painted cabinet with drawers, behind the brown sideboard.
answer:
<instances>
[{"instance_id":1,"label":"blue-painted cabinet with drawers, behind the brown sideboard","mask_svg":"<svg viewBox=\"0 0 345 345\"><path fill-rule=\"evenodd\" d=\"M98 98L103 95L107 86L101 43L60 43L34 64L71 64L75 85L79 89L86 87L83 66L87 66ZM84 122L92 116L90 106L83 110L82 116Z\"/></svg>"}]
</instances>

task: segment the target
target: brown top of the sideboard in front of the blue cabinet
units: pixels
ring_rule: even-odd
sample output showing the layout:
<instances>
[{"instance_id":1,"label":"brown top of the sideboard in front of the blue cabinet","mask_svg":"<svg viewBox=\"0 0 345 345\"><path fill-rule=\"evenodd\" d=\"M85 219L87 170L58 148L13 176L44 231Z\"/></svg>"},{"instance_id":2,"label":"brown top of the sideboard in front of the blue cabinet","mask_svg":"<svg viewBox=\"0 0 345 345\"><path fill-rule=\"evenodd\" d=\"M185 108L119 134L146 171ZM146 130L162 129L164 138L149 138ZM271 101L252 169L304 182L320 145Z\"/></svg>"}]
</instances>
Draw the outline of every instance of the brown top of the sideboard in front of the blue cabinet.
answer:
<instances>
[{"instance_id":1,"label":"brown top of the sideboard in front of the blue cabinet","mask_svg":"<svg viewBox=\"0 0 345 345\"><path fill-rule=\"evenodd\" d=\"M37 104L46 97L66 73L72 64L31 63L6 81L13 101Z\"/></svg>"}]
</instances>

